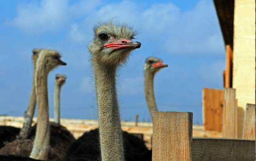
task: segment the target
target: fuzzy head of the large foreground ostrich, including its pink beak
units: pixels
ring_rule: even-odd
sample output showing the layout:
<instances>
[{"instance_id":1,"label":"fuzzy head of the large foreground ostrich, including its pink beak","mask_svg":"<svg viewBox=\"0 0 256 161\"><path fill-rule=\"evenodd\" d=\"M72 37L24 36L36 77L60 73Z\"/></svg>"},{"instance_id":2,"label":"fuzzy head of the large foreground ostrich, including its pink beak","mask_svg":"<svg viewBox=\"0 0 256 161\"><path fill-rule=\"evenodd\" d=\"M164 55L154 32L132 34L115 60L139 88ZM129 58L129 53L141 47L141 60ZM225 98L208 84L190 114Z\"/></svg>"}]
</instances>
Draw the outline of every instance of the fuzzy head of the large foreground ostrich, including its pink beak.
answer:
<instances>
[{"instance_id":1,"label":"fuzzy head of the large foreground ostrich, including its pink beak","mask_svg":"<svg viewBox=\"0 0 256 161\"><path fill-rule=\"evenodd\" d=\"M132 50L141 47L140 42L132 41L136 35L132 27L116 24L113 20L99 23L94 32L94 40L88 49L93 61L106 68L124 63Z\"/></svg>"}]
</instances>

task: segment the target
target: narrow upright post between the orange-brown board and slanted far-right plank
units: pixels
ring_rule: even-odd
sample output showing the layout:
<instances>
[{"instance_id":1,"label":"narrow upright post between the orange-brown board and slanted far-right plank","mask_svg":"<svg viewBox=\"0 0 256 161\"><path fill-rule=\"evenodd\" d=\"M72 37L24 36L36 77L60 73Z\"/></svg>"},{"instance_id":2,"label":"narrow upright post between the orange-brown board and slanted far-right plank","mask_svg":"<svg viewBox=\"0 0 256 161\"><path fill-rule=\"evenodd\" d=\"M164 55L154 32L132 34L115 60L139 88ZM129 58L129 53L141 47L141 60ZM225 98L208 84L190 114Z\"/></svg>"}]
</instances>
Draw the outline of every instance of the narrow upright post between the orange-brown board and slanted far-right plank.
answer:
<instances>
[{"instance_id":1,"label":"narrow upright post between the orange-brown board and slanted far-right plank","mask_svg":"<svg viewBox=\"0 0 256 161\"><path fill-rule=\"evenodd\" d=\"M222 121L223 138L237 138L236 89L224 89Z\"/></svg>"}]
</instances>

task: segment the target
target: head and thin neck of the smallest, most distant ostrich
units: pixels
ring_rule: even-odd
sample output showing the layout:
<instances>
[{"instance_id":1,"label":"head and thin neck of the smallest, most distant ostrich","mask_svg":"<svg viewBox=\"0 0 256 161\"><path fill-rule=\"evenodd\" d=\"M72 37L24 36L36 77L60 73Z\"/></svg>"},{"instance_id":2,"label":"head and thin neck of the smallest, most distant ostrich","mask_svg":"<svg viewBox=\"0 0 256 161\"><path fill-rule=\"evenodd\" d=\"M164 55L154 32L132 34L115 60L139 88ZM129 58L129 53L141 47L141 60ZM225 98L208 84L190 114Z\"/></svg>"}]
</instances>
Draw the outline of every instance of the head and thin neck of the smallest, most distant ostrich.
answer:
<instances>
[{"instance_id":1,"label":"head and thin neck of the smallest, most distant ostrich","mask_svg":"<svg viewBox=\"0 0 256 161\"><path fill-rule=\"evenodd\" d=\"M60 124L60 89L66 81L66 75L57 74L54 88L54 122Z\"/></svg>"}]
</instances>

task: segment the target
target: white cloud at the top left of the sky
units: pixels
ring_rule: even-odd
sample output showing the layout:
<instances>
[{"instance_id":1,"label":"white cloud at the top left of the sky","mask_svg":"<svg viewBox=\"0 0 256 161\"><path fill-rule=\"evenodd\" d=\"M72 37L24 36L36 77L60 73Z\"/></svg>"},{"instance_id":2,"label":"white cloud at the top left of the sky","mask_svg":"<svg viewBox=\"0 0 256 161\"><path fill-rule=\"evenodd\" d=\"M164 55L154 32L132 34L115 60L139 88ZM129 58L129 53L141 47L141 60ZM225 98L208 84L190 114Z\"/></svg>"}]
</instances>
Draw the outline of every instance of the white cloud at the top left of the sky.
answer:
<instances>
[{"instance_id":1,"label":"white cloud at the top left of the sky","mask_svg":"<svg viewBox=\"0 0 256 161\"><path fill-rule=\"evenodd\" d=\"M72 18L90 12L99 5L100 0L80 0L70 6L68 2L69 0L41 0L40 3L19 5L17 17L7 23L27 33L57 32Z\"/></svg>"}]
</instances>

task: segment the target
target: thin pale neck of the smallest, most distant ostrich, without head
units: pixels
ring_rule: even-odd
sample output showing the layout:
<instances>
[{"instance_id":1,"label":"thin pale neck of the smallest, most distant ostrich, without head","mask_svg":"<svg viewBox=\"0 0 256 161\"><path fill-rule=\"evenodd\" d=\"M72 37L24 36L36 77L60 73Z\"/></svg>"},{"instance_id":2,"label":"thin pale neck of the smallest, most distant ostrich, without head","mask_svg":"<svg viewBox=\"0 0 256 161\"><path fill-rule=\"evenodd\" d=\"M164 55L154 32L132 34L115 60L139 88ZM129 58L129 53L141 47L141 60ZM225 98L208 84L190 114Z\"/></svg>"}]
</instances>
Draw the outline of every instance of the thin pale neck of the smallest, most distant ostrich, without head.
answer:
<instances>
[{"instance_id":1,"label":"thin pale neck of the smallest, most distant ostrich, without head","mask_svg":"<svg viewBox=\"0 0 256 161\"><path fill-rule=\"evenodd\" d=\"M61 86L55 82L54 87L54 122L60 124L60 88Z\"/></svg>"}]
</instances>

